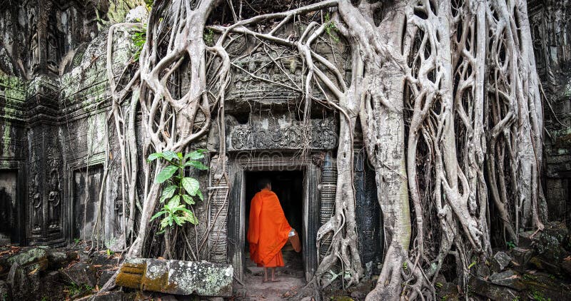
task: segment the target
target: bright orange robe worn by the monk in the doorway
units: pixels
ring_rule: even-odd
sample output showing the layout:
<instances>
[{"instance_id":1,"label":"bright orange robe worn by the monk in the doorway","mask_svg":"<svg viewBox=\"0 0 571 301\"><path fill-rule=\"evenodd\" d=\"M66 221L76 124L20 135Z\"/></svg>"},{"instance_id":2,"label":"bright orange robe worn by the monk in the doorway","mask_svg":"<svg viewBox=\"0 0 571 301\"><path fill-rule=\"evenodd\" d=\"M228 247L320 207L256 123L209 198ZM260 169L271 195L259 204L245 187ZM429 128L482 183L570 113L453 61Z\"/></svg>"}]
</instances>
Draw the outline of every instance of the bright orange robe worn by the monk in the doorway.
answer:
<instances>
[{"instance_id":1,"label":"bright orange robe worn by the monk in the doorway","mask_svg":"<svg viewBox=\"0 0 571 301\"><path fill-rule=\"evenodd\" d=\"M261 267L283 267L281 248L288 242L290 230L276 193L267 189L256 193L248 227L251 260Z\"/></svg>"}]
</instances>

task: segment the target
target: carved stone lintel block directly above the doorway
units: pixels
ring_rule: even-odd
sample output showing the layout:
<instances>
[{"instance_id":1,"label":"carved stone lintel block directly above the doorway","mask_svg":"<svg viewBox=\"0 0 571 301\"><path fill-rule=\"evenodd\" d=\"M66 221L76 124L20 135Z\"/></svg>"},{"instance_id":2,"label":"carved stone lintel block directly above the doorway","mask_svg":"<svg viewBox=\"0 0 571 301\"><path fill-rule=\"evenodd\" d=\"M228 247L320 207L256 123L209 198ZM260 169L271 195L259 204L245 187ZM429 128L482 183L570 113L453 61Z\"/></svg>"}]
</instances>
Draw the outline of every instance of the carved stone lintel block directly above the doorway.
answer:
<instances>
[{"instance_id":1,"label":"carved stone lintel block directly above the doorway","mask_svg":"<svg viewBox=\"0 0 571 301\"><path fill-rule=\"evenodd\" d=\"M228 150L332 149L337 146L333 119L311 120L310 129L300 121L268 118L253 121L256 126L231 129Z\"/></svg>"}]
</instances>

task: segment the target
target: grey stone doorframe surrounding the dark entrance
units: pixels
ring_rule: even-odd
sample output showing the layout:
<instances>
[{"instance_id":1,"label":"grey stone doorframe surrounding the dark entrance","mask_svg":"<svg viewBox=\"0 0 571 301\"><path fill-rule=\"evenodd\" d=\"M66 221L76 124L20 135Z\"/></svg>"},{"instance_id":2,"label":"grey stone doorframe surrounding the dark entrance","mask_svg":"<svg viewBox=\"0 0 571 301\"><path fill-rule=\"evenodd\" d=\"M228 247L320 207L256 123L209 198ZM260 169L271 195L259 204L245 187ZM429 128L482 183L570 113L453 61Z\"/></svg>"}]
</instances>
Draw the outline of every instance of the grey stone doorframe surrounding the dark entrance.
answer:
<instances>
[{"instance_id":1,"label":"grey stone doorframe surrounding the dark entrance","mask_svg":"<svg viewBox=\"0 0 571 301\"><path fill-rule=\"evenodd\" d=\"M303 171L303 266L305 280L309 281L317 268L317 248L315 238L319 228L320 198L318 184L320 168L309 158L286 153L266 153L255 155L240 153L228 160L228 175L231 182L228 204L228 263L234 268L234 275L243 279L246 255L243 246L246 242L246 171Z\"/></svg>"}]
</instances>

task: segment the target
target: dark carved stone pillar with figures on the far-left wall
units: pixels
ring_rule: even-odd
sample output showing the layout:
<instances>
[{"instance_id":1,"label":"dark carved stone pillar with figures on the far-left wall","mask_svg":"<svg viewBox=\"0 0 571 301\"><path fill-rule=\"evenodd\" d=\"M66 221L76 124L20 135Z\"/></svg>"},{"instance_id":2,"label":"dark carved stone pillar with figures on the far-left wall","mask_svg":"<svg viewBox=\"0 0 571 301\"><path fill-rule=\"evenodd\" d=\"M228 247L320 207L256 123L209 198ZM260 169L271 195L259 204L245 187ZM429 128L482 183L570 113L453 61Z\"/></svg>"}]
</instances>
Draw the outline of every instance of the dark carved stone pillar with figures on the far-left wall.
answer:
<instances>
[{"instance_id":1,"label":"dark carved stone pillar with figures on the far-left wall","mask_svg":"<svg viewBox=\"0 0 571 301\"><path fill-rule=\"evenodd\" d=\"M64 178L59 141L58 87L37 76L29 84L26 237L30 245L64 243Z\"/></svg>"}]
</instances>

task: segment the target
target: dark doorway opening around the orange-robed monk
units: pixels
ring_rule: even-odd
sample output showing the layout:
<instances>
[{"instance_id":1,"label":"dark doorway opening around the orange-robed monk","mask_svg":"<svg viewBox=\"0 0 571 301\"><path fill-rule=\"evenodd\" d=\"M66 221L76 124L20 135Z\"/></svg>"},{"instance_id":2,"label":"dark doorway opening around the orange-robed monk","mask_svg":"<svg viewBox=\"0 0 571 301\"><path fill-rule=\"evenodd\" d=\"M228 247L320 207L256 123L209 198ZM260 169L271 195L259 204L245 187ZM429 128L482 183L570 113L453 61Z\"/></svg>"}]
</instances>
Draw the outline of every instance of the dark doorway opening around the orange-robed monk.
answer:
<instances>
[{"instance_id":1,"label":"dark doorway opening around the orange-robed monk","mask_svg":"<svg viewBox=\"0 0 571 301\"><path fill-rule=\"evenodd\" d=\"M251 200L258 193L258 180L268 178L272 183L272 190L280 200L283 213L288 223L300 235L300 241L303 242L303 170L290 171L247 171L246 172L246 223L245 233L248 233ZM246 254L246 273L250 272L255 275L261 272L261 267L256 268L256 264L250 260L248 240L244 243L244 254ZM282 249L283 261L285 266L278 269L278 275L291 275L295 277L304 277L303 253L295 252L290 243L286 243Z\"/></svg>"}]
</instances>

